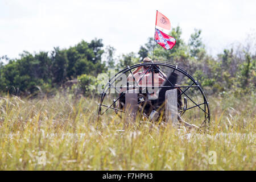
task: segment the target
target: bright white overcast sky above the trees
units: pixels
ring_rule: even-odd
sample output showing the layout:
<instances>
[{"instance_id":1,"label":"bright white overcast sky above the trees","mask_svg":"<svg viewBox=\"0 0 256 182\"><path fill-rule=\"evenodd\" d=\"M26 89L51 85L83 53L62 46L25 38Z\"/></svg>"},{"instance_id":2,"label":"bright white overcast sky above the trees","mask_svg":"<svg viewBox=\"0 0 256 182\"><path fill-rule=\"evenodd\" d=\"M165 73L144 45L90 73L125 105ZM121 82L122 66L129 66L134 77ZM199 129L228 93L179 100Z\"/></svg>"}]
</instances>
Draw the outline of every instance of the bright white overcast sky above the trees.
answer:
<instances>
[{"instance_id":1,"label":"bright white overcast sky above the trees","mask_svg":"<svg viewBox=\"0 0 256 182\"><path fill-rule=\"evenodd\" d=\"M180 25L185 41L200 28L208 52L216 55L255 34L255 9L255 0L0 0L0 56L18 58L23 50L68 48L94 38L102 38L117 54L138 52L154 35L156 10L172 27Z\"/></svg>"}]
</instances>

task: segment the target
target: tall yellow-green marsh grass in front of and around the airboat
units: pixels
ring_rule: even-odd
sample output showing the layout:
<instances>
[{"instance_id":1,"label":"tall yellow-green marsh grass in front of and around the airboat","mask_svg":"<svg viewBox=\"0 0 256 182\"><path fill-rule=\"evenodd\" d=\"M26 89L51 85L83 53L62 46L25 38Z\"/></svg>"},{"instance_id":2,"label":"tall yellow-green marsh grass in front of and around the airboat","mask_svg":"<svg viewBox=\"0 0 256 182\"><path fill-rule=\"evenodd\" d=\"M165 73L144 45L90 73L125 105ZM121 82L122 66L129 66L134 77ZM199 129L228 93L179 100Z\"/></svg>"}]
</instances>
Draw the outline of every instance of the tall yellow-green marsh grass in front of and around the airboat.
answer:
<instances>
[{"instance_id":1,"label":"tall yellow-green marsh grass in front of and around the airboat","mask_svg":"<svg viewBox=\"0 0 256 182\"><path fill-rule=\"evenodd\" d=\"M208 131L96 121L97 99L0 98L0 170L255 170L255 96L209 97Z\"/></svg>"}]
</instances>

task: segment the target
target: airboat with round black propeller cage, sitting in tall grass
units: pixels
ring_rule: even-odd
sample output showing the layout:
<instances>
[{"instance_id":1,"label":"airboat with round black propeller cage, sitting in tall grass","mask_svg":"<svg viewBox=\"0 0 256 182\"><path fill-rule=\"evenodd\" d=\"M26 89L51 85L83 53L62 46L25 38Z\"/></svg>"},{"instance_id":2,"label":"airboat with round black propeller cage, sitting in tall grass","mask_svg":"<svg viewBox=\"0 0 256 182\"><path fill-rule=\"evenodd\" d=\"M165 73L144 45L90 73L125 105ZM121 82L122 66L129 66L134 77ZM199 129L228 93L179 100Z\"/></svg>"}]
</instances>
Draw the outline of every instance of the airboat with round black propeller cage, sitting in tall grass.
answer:
<instances>
[{"instance_id":1,"label":"airboat with round black propeller cage, sitting in tall grass","mask_svg":"<svg viewBox=\"0 0 256 182\"><path fill-rule=\"evenodd\" d=\"M147 71L141 74L139 80L133 74L138 67L147 68ZM139 84L148 73L151 73L151 85ZM150 93L148 90L156 86L153 78L157 74L164 79L164 82L157 86L158 96L152 98L152 92ZM121 78L129 76L133 78L132 82L127 82L126 85L118 84ZM114 89L115 92L110 92L111 89ZM134 90L137 90L137 92L134 92ZM140 119L146 118L151 121L154 118L154 121L167 122L166 93L170 90L177 90L175 95L177 104L174 107L177 111L177 123L179 125L185 124L185 126L194 126L199 129L209 126L209 102L201 84L189 75L185 69L165 61L139 63L127 66L117 72L109 79L101 93L98 102L98 117L114 114L122 118L125 114L133 111ZM135 101L132 104L130 102L131 98ZM131 107L127 106L128 102L132 105Z\"/></svg>"}]
</instances>

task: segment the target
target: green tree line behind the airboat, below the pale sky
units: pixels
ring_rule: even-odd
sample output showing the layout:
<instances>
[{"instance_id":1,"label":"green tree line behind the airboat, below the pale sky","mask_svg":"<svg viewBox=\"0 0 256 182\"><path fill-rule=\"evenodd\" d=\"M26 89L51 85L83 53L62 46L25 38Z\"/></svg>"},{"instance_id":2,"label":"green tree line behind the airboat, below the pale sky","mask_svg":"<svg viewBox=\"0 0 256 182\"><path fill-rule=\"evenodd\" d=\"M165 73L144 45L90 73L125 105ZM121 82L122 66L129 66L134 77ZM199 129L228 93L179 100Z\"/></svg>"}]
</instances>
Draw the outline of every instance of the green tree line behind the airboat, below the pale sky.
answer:
<instances>
[{"instance_id":1,"label":"green tree line behind the airboat, below the pale sky","mask_svg":"<svg viewBox=\"0 0 256 182\"><path fill-rule=\"evenodd\" d=\"M213 57L207 53L201 40L201 30L191 34L188 43L181 39L181 28L172 28L171 36L176 38L175 47L166 51L156 45L155 60L169 61L190 72L209 94L246 94L255 91L256 53L250 46L227 48ZM38 90L52 92L70 80L77 80L75 86L83 93L92 92L97 84L97 75L110 68L120 69L139 63L143 57L152 57L153 38L141 46L137 53L130 52L115 58L115 48L106 46L102 39L91 42L82 40L67 49L59 47L52 51L30 53L24 51L19 59L0 57L0 94L33 94ZM105 60L103 59L105 55ZM7 64L3 64L7 60Z\"/></svg>"}]
</instances>

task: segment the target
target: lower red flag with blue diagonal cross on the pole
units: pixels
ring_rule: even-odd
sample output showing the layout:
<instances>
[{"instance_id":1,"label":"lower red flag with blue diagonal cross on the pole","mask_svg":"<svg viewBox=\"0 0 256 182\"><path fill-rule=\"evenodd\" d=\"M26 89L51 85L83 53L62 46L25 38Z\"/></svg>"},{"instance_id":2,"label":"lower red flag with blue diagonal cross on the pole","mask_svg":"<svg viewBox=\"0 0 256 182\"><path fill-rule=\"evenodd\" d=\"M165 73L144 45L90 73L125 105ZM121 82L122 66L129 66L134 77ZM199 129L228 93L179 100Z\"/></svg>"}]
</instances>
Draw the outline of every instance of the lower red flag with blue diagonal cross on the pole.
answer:
<instances>
[{"instance_id":1,"label":"lower red flag with blue diagonal cross on the pole","mask_svg":"<svg viewBox=\"0 0 256 182\"><path fill-rule=\"evenodd\" d=\"M155 42L168 50L174 47L176 39L155 28Z\"/></svg>"}]
</instances>

